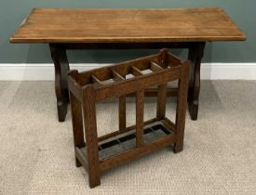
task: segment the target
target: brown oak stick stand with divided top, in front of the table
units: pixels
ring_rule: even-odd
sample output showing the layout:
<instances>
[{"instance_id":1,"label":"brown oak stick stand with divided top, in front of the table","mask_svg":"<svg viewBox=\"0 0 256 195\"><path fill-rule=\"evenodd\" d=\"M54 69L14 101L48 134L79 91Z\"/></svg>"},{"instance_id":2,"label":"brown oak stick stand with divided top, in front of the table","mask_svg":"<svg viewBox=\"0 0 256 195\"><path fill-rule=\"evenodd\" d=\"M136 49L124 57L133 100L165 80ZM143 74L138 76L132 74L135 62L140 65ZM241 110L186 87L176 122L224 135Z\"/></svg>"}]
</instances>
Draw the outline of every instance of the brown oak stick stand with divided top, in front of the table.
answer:
<instances>
[{"instance_id":1,"label":"brown oak stick stand with divided top, in front of the table","mask_svg":"<svg viewBox=\"0 0 256 195\"><path fill-rule=\"evenodd\" d=\"M182 62L167 49L93 71L69 72L75 163L88 171L90 188L101 184L101 172L116 165L171 144L175 152L182 150L188 77L189 62ZM165 115L168 82L174 80L179 85L173 123ZM144 91L154 85L158 90L156 117L143 121ZM136 97L136 123L132 126L126 124L129 94ZM98 137L96 103L109 97L119 98L119 129Z\"/></svg>"}]
</instances>

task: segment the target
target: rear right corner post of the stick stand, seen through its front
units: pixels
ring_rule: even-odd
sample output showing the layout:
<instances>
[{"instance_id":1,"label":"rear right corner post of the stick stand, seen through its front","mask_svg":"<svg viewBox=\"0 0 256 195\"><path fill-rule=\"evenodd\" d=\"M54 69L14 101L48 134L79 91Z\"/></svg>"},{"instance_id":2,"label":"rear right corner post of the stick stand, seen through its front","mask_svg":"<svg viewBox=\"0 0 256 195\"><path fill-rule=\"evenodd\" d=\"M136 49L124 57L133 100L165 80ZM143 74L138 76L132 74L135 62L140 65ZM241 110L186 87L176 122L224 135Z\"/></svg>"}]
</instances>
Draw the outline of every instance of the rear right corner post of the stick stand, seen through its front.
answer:
<instances>
[{"instance_id":1,"label":"rear right corner post of the stick stand, seen through its front","mask_svg":"<svg viewBox=\"0 0 256 195\"><path fill-rule=\"evenodd\" d=\"M162 120L166 115L168 84L159 84L157 92L156 118Z\"/></svg>"}]
</instances>

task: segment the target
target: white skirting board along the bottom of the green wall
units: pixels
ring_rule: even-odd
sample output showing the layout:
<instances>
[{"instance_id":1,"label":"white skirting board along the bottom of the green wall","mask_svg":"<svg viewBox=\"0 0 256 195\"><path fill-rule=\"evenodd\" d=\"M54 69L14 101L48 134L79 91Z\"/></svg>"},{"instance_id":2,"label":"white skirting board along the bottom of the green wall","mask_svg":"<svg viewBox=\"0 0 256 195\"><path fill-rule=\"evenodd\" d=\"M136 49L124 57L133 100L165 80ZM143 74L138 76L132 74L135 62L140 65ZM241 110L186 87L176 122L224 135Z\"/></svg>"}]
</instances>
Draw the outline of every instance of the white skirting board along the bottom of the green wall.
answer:
<instances>
[{"instance_id":1,"label":"white skirting board along the bottom of the green wall","mask_svg":"<svg viewBox=\"0 0 256 195\"><path fill-rule=\"evenodd\" d=\"M109 64L71 64L71 69L88 71ZM203 80L256 80L255 63L202 63ZM0 64L0 80L53 81L53 64Z\"/></svg>"}]
</instances>

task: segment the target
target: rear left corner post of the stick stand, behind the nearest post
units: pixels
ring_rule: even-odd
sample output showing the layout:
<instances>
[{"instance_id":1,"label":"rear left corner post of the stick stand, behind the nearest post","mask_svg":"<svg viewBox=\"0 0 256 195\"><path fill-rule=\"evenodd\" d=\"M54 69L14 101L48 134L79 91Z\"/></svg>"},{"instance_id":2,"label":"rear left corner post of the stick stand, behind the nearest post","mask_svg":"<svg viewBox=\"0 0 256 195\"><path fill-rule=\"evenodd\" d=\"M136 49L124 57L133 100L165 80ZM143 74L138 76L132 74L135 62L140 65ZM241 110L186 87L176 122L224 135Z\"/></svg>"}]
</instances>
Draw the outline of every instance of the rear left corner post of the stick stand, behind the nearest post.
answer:
<instances>
[{"instance_id":1,"label":"rear left corner post of the stick stand, behind the nearest post","mask_svg":"<svg viewBox=\"0 0 256 195\"><path fill-rule=\"evenodd\" d=\"M73 93L70 91L70 101L71 101L71 114L72 114L72 124L73 124L73 134L74 134L74 149L75 147L81 149L86 146L84 140L84 130L83 130L83 117L82 117L82 105L79 100L74 97ZM81 166L81 163L75 157L75 165Z\"/></svg>"}]
</instances>

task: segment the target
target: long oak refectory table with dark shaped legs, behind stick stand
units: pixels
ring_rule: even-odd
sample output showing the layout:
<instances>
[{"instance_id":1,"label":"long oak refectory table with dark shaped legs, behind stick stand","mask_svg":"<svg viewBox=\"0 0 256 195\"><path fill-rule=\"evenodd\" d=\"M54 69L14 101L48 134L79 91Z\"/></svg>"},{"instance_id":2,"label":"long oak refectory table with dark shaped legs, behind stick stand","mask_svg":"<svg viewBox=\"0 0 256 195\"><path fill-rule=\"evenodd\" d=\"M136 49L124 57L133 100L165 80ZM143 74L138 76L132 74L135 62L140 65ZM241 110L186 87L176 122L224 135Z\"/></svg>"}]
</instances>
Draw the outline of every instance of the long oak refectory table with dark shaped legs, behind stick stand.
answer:
<instances>
[{"instance_id":1,"label":"long oak refectory table with dark shaped legs, behind stick stand","mask_svg":"<svg viewBox=\"0 0 256 195\"><path fill-rule=\"evenodd\" d=\"M55 66L59 121L69 102L67 49L188 48L188 103L197 119L200 64L206 42L244 41L246 36L219 7L163 9L34 8L11 43L48 44ZM99 57L101 58L101 57ZM168 95L177 90L168 89ZM149 89L146 95L155 95Z\"/></svg>"}]
</instances>

